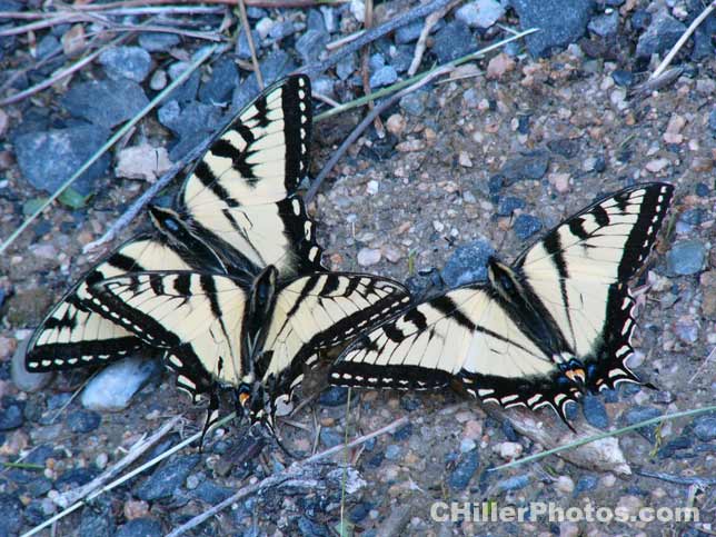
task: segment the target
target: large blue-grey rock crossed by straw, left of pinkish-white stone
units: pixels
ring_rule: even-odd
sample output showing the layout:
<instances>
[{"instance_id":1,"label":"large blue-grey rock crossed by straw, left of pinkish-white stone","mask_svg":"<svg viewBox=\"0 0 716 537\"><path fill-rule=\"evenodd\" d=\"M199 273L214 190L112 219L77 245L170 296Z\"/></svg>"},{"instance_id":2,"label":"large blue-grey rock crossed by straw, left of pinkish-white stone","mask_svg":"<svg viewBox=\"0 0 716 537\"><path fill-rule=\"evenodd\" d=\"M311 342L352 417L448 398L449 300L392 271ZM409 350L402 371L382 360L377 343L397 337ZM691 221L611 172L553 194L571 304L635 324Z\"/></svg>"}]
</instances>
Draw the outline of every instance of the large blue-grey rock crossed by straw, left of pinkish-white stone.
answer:
<instances>
[{"instance_id":1,"label":"large blue-grey rock crossed by straw, left of pinkish-white stone","mask_svg":"<svg viewBox=\"0 0 716 537\"><path fill-rule=\"evenodd\" d=\"M54 192L109 136L107 129L96 125L20 135L13 140L18 166L32 187ZM72 188L83 196L91 193L92 182L105 175L109 162L109 155L102 155L72 183Z\"/></svg>"}]
</instances>

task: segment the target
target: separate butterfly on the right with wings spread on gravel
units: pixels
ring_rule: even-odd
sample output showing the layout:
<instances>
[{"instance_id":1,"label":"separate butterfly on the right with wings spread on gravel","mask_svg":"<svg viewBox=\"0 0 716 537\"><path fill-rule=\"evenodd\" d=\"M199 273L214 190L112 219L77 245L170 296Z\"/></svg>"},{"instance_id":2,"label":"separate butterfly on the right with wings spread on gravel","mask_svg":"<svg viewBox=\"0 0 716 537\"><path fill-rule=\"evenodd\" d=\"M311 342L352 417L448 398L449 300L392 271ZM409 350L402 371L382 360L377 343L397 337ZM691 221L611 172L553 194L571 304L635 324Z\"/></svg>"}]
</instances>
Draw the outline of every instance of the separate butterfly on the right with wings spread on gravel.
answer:
<instances>
[{"instance_id":1,"label":"separate butterfly on the right with wings spread on gravel","mask_svg":"<svg viewBox=\"0 0 716 537\"><path fill-rule=\"evenodd\" d=\"M339 386L429 389L456 382L504 407L565 408L583 390L642 384L627 367L644 266L674 193L625 188L570 216L487 282L410 306L367 331L329 371Z\"/></svg>"}]
</instances>

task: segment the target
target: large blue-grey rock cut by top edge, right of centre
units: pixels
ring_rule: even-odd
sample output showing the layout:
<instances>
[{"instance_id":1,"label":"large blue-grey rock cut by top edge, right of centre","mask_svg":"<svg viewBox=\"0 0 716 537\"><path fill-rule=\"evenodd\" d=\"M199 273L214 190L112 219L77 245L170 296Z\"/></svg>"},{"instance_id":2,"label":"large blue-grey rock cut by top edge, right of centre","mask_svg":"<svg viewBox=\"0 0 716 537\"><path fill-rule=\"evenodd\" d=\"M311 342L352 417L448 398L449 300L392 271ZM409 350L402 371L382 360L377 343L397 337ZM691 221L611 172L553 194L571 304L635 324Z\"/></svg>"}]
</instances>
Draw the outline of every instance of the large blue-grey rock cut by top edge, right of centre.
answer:
<instances>
[{"instance_id":1,"label":"large blue-grey rock cut by top edge, right of centre","mask_svg":"<svg viewBox=\"0 0 716 537\"><path fill-rule=\"evenodd\" d=\"M549 56L581 38L591 18L593 0L511 0L523 30L539 28L527 36L527 50L537 57Z\"/></svg>"}]
</instances>

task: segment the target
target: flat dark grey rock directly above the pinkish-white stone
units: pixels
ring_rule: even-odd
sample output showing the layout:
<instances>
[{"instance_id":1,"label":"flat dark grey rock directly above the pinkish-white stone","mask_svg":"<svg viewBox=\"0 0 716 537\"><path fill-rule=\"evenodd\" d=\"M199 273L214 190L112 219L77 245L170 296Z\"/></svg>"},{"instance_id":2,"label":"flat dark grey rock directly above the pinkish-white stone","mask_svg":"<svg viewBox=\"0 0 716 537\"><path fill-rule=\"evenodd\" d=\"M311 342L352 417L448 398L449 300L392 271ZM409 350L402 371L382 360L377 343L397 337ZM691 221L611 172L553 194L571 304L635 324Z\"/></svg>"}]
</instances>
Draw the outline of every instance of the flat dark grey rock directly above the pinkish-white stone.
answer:
<instances>
[{"instance_id":1,"label":"flat dark grey rock directly above the pinkish-white stone","mask_svg":"<svg viewBox=\"0 0 716 537\"><path fill-rule=\"evenodd\" d=\"M76 118L111 129L133 118L149 99L137 82L120 79L74 84L61 102Z\"/></svg>"}]
</instances>

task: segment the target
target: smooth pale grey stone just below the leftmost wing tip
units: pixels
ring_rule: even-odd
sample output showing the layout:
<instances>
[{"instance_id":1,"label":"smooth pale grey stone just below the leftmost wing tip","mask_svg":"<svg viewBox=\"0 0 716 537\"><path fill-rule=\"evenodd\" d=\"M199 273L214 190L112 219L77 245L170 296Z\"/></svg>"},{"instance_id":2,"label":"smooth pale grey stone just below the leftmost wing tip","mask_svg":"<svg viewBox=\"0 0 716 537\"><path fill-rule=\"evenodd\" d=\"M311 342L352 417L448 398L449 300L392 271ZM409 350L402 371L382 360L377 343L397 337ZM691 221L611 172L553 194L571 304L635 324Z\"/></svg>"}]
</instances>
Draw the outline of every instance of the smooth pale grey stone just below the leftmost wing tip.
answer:
<instances>
[{"instance_id":1,"label":"smooth pale grey stone just below the leftmost wing tip","mask_svg":"<svg viewBox=\"0 0 716 537\"><path fill-rule=\"evenodd\" d=\"M115 361L87 384L82 391L82 406L98 411L122 410L135 394L151 378L160 377L162 371L159 360L131 357Z\"/></svg>"}]
</instances>

